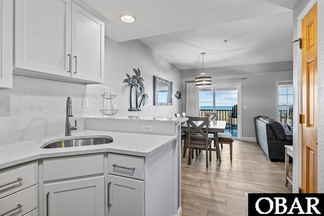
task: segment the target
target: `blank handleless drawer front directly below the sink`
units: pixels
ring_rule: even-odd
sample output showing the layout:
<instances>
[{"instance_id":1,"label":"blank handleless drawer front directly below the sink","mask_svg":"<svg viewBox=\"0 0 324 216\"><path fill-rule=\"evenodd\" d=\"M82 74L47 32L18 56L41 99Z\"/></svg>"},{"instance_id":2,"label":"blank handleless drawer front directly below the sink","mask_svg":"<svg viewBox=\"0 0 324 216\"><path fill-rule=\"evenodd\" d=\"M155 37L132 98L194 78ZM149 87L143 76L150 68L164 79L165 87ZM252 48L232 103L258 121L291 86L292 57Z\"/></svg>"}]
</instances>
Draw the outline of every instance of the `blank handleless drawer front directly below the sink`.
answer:
<instances>
[{"instance_id":1,"label":"blank handleless drawer front directly below the sink","mask_svg":"<svg viewBox=\"0 0 324 216\"><path fill-rule=\"evenodd\" d=\"M103 174L103 154L47 158L44 181Z\"/></svg>"}]
</instances>

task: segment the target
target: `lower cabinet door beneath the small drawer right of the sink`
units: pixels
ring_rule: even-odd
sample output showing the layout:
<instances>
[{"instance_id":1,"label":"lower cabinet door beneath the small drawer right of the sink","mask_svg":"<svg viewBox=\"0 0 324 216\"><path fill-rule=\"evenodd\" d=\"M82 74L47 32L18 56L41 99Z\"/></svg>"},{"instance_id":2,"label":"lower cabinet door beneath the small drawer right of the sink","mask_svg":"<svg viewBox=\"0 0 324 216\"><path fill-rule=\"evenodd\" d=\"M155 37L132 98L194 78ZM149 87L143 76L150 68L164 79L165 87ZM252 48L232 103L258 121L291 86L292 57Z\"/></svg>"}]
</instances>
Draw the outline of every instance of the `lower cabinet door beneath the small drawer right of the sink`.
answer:
<instances>
[{"instance_id":1,"label":"lower cabinet door beneath the small drawer right of the sink","mask_svg":"<svg viewBox=\"0 0 324 216\"><path fill-rule=\"evenodd\" d=\"M144 181L108 175L109 216L144 215Z\"/></svg>"}]
</instances>

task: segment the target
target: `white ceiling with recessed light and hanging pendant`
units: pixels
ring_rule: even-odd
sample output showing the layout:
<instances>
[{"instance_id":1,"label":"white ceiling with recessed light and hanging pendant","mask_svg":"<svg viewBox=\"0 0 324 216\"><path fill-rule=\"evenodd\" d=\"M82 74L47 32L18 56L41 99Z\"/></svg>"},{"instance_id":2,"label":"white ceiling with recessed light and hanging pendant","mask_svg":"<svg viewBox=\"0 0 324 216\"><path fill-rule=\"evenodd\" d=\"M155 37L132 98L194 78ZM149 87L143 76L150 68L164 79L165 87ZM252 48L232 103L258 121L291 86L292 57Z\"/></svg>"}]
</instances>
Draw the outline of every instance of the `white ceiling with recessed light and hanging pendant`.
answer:
<instances>
[{"instance_id":1,"label":"white ceiling with recessed light and hanging pendant","mask_svg":"<svg viewBox=\"0 0 324 216\"><path fill-rule=\"evenodd\" d=\"M80 0L116 42L139 39L180 70L293 60L299 0ZM136 21L119 17L132 14ZM226 42L224 42L226 40Z\"/></svg>"}]
</instances>

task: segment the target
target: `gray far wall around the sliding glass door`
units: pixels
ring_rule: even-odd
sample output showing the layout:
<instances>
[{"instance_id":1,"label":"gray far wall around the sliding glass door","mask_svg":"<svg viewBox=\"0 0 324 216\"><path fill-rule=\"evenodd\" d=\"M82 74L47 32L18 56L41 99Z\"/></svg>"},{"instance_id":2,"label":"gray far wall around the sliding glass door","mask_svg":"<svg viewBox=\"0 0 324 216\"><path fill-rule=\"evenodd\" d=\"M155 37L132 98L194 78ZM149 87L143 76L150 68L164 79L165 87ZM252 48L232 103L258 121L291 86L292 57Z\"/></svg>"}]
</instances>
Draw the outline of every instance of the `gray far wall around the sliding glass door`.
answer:
<instances>
[{"instance_id":1,"label":"gray far wall around the sliding glass door","mask_svg":"<svg viewBox=\"0 0 324 216\"><path fill-rule=\"evenodd\" d=\"M235 67L218 67L204 69L212 76L213 83L241 82L242 139L255 138L254 117L266 115L276 118L276 81L293 80L292 61L275 62ZM183 80L194 80L201 69L181 71ZM226 75L228 72L234 75ZM241 80L242 77L248 79ZM186 84L183 83L185 98ZM185 105L183 104L183 108Z\"/></svg>"}]
</instances>

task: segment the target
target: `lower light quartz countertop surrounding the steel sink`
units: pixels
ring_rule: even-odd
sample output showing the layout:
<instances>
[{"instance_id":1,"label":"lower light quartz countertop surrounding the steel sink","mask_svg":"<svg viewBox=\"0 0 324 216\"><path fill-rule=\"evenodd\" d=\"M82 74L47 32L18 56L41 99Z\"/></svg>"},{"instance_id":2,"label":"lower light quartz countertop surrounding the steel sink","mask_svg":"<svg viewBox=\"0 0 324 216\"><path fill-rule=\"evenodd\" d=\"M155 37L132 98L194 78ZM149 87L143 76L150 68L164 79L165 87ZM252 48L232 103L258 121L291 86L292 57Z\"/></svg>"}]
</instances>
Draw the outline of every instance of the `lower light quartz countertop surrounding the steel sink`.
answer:
<instances>
[{"instance_id":1,"label":"lower light quartz countertop surrounding the steel sink","mask_svg":"<svg viewBox=\"0 0 324 216\"><path fill-rule=\"evenodd\" d=\"M55 136L18 142L8 142L0 145L0 169L35 159L101 152L112 152L145 157L157 152L159 149L177 139L176 135L167 136L91 130L72 131L71 134L71 138L79 136L110 136L112 137L113 142L93 146L52 149L43 149L41 146L51 140L66 137Z\"/></svg>"}]
</instances>

